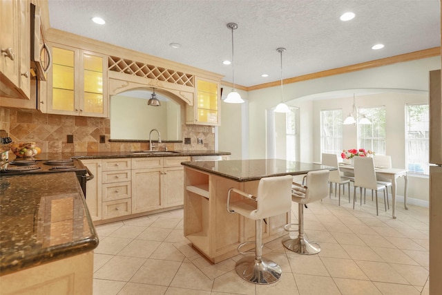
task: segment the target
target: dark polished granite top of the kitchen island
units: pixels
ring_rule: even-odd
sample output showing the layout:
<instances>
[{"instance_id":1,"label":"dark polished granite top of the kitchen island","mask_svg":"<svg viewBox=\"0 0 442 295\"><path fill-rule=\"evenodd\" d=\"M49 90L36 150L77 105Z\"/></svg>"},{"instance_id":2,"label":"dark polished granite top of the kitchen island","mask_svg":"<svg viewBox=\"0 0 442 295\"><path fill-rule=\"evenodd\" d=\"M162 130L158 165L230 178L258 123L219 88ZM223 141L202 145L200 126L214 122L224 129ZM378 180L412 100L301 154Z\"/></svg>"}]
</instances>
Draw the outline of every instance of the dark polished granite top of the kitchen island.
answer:
<instances>
[{"instance_id":1,"label":"dark polished granite top of the kitchen island","mask_svg":"<svg viewBox=\"0 0 442 295\"><path fill-rule=\"evenodd\" d=\"M336 167L280 159L182 162L184 166L220 175L238 182L260 180L280 175L300 175L314 170L335 170Z\"/></svg>"}]
</instances>

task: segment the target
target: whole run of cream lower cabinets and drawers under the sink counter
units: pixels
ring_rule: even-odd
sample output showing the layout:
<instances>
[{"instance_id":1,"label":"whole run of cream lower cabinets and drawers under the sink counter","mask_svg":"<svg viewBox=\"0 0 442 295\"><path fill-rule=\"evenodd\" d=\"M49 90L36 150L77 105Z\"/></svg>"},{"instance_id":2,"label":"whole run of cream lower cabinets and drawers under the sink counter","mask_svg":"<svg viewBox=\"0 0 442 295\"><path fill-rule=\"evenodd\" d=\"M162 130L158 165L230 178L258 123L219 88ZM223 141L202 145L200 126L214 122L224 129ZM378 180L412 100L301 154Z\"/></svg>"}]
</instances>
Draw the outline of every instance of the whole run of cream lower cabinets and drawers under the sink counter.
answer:
<instances>
[{"instance_id":1,"label":"whole run of cream lower cabinets and drawers under the sink counter","mask_svg":"<svg viewBox=\"0 0 442 295\"><path fill-rule=\"evenodd\" d=\"M86 184L93 221L182 206L189 157L81 160L95 176ZM104 223L104 222L100 222Z\"/></svg>"}]
</instances>

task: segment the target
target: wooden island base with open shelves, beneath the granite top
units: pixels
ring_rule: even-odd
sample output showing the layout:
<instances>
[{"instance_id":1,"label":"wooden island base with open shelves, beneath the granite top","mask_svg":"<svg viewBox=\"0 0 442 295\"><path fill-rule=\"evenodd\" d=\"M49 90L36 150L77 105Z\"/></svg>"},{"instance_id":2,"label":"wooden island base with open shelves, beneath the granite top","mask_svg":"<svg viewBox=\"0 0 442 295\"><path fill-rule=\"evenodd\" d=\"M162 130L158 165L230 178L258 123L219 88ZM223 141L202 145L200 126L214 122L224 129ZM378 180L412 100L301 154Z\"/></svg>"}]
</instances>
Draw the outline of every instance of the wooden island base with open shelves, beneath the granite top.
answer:
<instances>
[{"instance_id":1,"label":"wooden island base with open shelves, beneath the granite top","mask_svg":"<svg viewBox=\"0 0 442 295\"><path fill-rule=\"evenodd\" d=\"M227 192L234 187L256 194L258 183L259 180L238 182L184 166L184 236L212 263L238 255L238 245L255 240L254 220L227 212ZM238 198L242 197L231 196L232 201ZM289 222L289 212L266 218L262 242L287 234L284 225ZM250 244L242 249L254 247Z\"/></svg>"}]
</instances>

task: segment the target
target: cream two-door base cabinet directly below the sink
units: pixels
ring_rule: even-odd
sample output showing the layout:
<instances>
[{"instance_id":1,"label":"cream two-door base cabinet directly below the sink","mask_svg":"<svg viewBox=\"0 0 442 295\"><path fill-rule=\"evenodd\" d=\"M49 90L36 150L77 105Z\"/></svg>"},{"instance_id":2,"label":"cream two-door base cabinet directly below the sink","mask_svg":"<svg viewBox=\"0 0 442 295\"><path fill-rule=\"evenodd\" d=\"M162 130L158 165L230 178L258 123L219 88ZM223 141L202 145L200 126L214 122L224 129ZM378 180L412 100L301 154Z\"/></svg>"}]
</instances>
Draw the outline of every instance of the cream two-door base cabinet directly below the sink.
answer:
<instances>
[{"instance_id":1,"label":"cream two-door base cabinet directly below the sink","mask_svg":"<svg viewBox=\"0 0 442 295\"><path fill-rule=\"evenodd\" d=\"M182 206L184 172L189 157L132 159L132 213Z\"/></svg>"}]
</instances>

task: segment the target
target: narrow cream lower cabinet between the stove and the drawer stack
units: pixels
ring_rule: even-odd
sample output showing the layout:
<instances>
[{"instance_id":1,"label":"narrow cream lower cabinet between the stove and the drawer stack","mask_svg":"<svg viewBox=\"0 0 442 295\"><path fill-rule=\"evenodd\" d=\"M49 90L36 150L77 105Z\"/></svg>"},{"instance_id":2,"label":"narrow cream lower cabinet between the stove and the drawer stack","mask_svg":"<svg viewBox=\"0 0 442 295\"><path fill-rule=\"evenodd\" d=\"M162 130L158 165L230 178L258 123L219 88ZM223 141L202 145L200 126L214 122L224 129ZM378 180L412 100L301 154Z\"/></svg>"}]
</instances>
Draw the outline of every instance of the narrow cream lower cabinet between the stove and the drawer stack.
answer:
<instances>
[{"instance_id":1,"label":"narrow cream lower cabinet between the stove and the drawer stack","mask_svg":"<svg viewBox=\"0 0 442 295\"><path fill-rule=\"evenodd\" d=\"M92 221L102 220L102 160L84 159L81 162L88 167L94 178L86 182L86 204Z\"/></svg>"}]
</instances>

